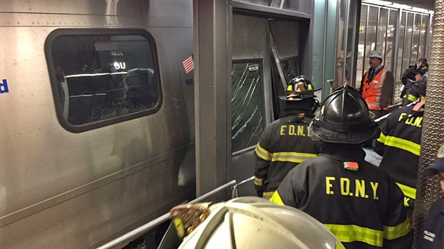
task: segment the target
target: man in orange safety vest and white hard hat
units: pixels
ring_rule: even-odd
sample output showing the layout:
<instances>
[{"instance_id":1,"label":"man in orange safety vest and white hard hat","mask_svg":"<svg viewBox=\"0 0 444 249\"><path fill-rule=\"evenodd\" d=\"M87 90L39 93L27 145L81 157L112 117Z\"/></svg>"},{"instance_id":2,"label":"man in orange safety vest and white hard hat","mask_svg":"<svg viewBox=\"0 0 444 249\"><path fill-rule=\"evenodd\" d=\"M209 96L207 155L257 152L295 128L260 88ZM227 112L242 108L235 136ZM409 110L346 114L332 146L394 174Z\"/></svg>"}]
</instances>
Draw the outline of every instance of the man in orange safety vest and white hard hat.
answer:
<instances>
[{"instance_id":1,"label":"man in orange safety vest and white hard hat","mask_svg":"<svg viewBox=\"0 0 444 249\"><path fill-rule=\"evenodd\" d=\"M382 54L373 51L370 54L370 68L361 80L359 93L366 100L370 117L374 120L388 113L388 104L393 97L393 73L382 65ZM373 113L373 115L372 115Z\"/></svg>"}]
</instances>

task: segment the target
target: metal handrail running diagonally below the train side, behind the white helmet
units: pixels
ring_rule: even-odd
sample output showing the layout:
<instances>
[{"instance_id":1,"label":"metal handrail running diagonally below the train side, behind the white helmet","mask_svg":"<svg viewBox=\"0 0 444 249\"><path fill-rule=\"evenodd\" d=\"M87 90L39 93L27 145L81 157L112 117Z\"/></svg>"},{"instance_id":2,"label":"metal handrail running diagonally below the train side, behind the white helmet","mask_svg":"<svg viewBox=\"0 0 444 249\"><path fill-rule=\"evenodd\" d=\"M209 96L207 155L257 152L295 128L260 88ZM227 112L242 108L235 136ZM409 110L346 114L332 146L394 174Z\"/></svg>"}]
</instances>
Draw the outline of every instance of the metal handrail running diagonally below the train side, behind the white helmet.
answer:
<instances>
[{"instance_id":1,"label":"metal handrail running diagonally below the train side, behind the white helmet","mask_svg":"<svg viewBox=\"0 0 444 249\"><path fill-rule=\"evenodd\" d=\"M229 183L225 183L224 185L221 185L220 187L215 188L214 190L208 192L207 194L203 194L202 196L199 196L198 198L190 201L189 204L198 203L199 201L203 201L207 197L210 197L210 196L216 194L217 192L220 192L221 190L229 187L230 185L234 185L234 184L236 184L236 180L232 180ZM164 223L168 219L169 219L169 212L167 214L157 217L156 219L153 219L153 221L150 221L150 222L146 223L145 225L139 226L139 228L136 228L135 230L132 230L130 232L127 232L126 234L123 234L121 237L118 237L108 243L105 243L105 245L100 246L97 249L113 248L114 246L117 246L120 243L123 243L126 241L133 241L133 240L137 239L138 237L141 237L143 234L146 234L146 232L149 232L151 229L155 228L157 225Z\"/></svg>"}]
</instances>

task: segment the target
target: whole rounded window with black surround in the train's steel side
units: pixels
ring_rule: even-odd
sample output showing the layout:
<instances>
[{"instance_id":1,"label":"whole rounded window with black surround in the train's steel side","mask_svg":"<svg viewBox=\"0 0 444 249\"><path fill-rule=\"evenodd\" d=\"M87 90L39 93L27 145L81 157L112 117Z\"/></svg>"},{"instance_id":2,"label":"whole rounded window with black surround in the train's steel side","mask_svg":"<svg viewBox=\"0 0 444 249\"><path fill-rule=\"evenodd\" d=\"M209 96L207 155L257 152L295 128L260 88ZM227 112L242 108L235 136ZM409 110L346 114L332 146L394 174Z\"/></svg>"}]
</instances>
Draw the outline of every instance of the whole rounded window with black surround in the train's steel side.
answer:
<instances>
[{"instance_id":1,"label":"whole rounded window with black surround in the train's steel side","mask_svg":"<svg viewBox=\"0 0 444 249\"><path fill-rule=\"evenodd\" d=\"M142 30L56 30L45 44L58 119L72 132L155 113L153 37Z\"/></svg>"}]
</instances>

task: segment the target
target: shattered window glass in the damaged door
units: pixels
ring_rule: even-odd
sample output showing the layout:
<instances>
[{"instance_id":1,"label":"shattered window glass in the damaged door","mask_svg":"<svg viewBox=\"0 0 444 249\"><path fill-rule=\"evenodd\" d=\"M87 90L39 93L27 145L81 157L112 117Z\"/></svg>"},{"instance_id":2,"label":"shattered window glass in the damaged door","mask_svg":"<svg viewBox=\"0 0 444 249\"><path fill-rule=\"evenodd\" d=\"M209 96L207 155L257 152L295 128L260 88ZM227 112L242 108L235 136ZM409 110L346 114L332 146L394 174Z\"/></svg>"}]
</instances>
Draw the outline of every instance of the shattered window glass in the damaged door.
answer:
<instances>
[{"instance_id":1,"label":"shattered window glass in the damaged door","mask_svg":"<svg viewBox=\"0 0 444 249\"><path fill-rule=\"evenodd\" d=\"M232 82L232 151L255 146L262 133L260 62L233 62Z\"/></svg>"}]
</instances>

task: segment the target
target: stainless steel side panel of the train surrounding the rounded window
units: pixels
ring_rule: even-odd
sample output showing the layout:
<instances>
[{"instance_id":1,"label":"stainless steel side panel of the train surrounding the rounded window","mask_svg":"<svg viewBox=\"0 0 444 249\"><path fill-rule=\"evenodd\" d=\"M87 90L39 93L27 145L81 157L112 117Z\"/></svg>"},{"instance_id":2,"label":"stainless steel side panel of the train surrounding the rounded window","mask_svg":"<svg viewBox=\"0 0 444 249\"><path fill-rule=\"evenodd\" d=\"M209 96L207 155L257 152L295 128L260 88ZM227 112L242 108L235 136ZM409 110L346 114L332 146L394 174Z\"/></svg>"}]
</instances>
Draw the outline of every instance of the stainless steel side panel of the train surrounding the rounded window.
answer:
<instances>
[{"instance_id":1,"label":"stainless steel side panel of the train surrounding the rounded window","mask_svg":"<svg viewBox=\"0 0 444 249\"><path fill-rule=\"evenodd\" d=\"M99 246L194 196L194 91L181 64L193 48L192 3L181 4L1 5L0 77L9 92L0 95L0 248ZM162 108L71 133L56 116L45 39L56 28L107 27L153 35Z\"/></svg>"}]
</instances>

